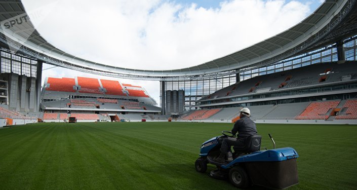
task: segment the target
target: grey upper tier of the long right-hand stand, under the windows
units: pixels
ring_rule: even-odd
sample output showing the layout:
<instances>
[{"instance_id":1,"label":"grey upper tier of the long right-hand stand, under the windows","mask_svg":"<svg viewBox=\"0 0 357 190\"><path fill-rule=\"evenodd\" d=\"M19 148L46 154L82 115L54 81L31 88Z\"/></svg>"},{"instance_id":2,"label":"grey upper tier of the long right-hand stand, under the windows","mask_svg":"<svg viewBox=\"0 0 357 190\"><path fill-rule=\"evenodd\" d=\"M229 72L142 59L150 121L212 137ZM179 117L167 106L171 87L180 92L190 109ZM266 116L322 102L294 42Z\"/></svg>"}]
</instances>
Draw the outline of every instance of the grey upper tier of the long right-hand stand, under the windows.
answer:
<instances>
[{"instance_id":1,"label":"grey upper tier of the long right-hand stand, under the windows","mask_svg":"<svg viewBox=\"0 0 357 190\"><path fill-rule=\"evenodd\" d=\"M356 70L357 64L353 61L342 64L316 63L282 72L259 75L218 90L200 101L353 80L357 78ZM324 81L321 81L322 77L325 78ZM284 85L282 86L282 84Z\"/></svg>"}]
</instances>

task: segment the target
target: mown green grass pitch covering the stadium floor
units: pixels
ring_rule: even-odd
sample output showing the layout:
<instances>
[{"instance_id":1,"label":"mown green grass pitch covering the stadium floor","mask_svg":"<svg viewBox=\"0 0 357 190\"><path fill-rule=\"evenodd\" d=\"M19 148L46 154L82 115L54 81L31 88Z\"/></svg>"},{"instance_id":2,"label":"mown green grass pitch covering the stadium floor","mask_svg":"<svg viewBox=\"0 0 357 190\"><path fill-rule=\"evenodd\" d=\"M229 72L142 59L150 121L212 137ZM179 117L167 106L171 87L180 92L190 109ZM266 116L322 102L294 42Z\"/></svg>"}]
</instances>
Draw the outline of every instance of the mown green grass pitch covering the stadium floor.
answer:
<instances>
[{"instance_id":1,"label":"mown green grass pitch covering the stadium floor","mask_svg":"<svg viewBox=\"0 0 357 190\"><path fill-rule=\"evenodd\" d=\"M194 169L212 123L41 123L0 129L0 189L237 189ZM258 124L262 147L294 147L299 184L357 189L357 126ZM261 187L252 187L261 189Z\"/></svg>"}]
</instances>

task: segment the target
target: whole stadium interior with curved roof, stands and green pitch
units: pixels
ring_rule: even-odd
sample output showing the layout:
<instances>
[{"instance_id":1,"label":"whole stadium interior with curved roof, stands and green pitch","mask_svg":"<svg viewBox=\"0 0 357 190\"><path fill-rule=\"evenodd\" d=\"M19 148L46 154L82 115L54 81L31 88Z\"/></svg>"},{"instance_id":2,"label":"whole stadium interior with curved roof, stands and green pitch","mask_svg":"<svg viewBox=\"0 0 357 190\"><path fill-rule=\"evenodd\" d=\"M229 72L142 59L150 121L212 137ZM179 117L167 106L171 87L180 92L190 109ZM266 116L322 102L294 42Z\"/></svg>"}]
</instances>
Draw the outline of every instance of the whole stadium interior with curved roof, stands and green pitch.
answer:
<instances>
[{"instance_id":1,"label":"whole stadium interior with curved roof, stands and green pitch","mask_svg":"<svg viewBox=\"0 0 357 190\"><path fill-rule=\"evenodd\" d=\"M20 0L0 5L1 189L236 189L194 161L244 107L264 147L271 133L298 151L289 189L357 189L356 1L326 0L264 41L170 70L72 55ZM44 64L78 75L44 76ZM160 82L160 100L125 79Z\"/></svg>"}]
</instances>

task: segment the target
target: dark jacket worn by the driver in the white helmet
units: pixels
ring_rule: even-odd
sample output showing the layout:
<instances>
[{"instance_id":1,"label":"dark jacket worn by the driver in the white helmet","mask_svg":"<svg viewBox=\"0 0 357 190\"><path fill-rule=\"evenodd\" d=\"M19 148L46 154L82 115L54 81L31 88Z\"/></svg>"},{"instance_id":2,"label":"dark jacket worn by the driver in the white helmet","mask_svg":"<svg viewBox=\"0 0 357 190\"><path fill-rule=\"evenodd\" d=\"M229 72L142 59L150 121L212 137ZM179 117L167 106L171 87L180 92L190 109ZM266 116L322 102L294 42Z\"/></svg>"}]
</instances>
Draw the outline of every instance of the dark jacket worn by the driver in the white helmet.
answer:
<instances>
[{"instance_id":1,"label":"dark jacket worn by the driver in the white helmet","mask_svg":"<svg viewBox=\"0 0 357 190\"><path fill-rule=\"evenodd\" d=\"M257 134L257 127L248 116L243 115L240 120L234 123L232 134L235 135L237 132L237 138L245 138Z\"/></svg>"}]
</instances>

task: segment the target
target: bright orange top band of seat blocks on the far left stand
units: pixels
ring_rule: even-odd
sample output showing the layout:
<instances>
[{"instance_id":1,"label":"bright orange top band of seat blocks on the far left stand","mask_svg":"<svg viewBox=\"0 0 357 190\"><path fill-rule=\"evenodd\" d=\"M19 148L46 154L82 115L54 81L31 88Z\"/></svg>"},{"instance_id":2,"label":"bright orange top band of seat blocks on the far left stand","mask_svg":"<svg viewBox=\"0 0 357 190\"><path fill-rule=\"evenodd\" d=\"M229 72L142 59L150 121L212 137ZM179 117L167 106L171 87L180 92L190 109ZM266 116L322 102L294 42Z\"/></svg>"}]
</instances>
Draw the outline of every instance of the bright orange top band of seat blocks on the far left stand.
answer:
<instances>
[{"instance_id":1,"label":"bright orange top band of seat blocks on the far left stand","mask_svg":"<svg viewBox=\"0 0 357 190\"><path fill-rule=\"evenodd\" d=\"M100 83L103 86L101 89ZM78 86L81 88L78 90L80 93L90 93L90 94L108 94L108 95L119 95L119 96L135 96L135 97L149 97L145 94L144 90L140 86L133 86L129 84L123 84L125 90L118 81L104 80L104 79L92 79L85 77L77 77ZM62 91L62 92L76 92L73 87L75 87L75 79L70 78L51 78L47 80L49 87L46 90L49 91ZM133 89L134 87L136 89ZM126 93L128 92L128 93Z\"/></svg>"}]
</instances>

